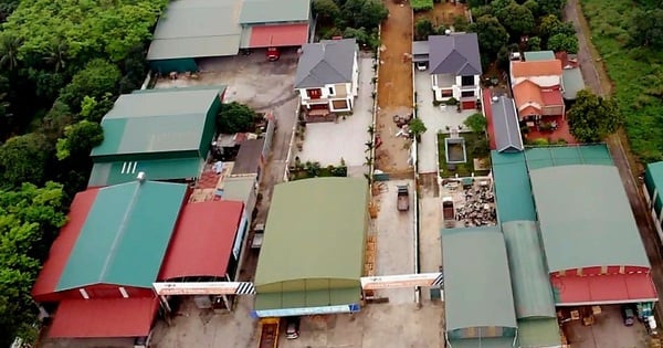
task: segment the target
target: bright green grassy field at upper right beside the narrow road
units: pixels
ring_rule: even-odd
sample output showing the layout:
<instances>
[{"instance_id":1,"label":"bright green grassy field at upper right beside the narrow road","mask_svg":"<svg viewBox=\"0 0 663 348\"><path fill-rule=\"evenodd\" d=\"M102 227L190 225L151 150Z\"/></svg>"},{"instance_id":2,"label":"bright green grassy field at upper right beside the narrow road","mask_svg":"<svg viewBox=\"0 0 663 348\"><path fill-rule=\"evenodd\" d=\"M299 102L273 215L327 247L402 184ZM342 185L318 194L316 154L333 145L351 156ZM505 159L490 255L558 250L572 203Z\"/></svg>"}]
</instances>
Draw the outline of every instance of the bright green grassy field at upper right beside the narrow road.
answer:
<instances>
[{"instance_id":1,"label":"bright green grassy field at upper right beside the narrow road","mask_svg":"<svg viewBox=\"0 0 663 348\"><path fill-rule=\"evenodd\" d=\"M581 0L591 40L604 61L624 115L631 150L641 161L663 160L663 52L629 45L631 0Z\"/></svg>"}]
</instances>

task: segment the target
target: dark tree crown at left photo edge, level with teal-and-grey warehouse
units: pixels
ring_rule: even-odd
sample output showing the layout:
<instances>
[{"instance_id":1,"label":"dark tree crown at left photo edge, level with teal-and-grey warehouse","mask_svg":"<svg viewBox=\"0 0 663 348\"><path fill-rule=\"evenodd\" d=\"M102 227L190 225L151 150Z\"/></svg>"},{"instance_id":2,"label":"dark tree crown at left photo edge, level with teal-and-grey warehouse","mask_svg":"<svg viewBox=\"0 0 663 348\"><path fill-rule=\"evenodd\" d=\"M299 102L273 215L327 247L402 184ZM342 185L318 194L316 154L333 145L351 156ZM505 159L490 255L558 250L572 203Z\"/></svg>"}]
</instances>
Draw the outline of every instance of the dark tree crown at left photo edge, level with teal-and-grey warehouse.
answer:
<instances>
[{"instance_id":1,"label":"dark tree crown at left photo edge, level with teal-and-grey warehouse","mask_svg":"<svg viewBox=\"0 0 663 348\"><path fill-rule=\"evenodd\" d=\"M40 133L12 137L0 146L0 172L10 187L23 182L41 183L52 146Z\"/></svg>"}]
</instances>

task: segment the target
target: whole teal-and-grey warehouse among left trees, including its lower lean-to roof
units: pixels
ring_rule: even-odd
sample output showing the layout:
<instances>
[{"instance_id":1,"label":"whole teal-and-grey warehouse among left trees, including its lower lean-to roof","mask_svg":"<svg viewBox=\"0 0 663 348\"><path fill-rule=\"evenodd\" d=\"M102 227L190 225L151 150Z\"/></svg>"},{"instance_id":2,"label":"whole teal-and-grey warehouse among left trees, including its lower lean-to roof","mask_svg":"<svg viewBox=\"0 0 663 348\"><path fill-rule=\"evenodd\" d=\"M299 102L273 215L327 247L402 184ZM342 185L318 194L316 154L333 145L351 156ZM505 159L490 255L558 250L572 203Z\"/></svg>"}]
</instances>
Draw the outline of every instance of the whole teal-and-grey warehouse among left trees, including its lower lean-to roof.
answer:
<instances>
[{"instance_id":1,"label":"whole teal-and-grey warehouse among left trees, including its lower lean-to roof","mask_svg":"<svg viewBox=\"0 0 663 348\"><path fill-rule=\"evenodd\" d=\"M88 187L197 178L214 136L224 87L136 91L120 95L102 119Z\"/></svg>"}]
</instances>

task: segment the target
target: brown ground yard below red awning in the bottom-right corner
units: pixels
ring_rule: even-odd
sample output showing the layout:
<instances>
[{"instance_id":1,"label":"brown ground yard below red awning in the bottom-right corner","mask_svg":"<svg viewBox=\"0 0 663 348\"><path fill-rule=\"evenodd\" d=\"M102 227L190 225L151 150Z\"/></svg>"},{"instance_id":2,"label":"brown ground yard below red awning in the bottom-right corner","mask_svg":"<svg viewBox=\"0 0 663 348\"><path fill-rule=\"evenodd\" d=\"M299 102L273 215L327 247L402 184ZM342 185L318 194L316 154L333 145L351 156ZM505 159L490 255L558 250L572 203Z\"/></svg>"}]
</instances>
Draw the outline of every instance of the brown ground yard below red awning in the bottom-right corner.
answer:
<instances>
[{"instance_id":1,"label":"brown ground yard below red awning in the bottom-right corner","mask_svg":"<svg viewBox=\"0 0 663 348\"><path fill-rule=\"evenodd\" d=\"M641 348L648 347L644 325L635 320L633 326L624 326L620 306L601 306L591 326L582 326L581 320L564 325L565 335L573 348Z\"/></svg>"}]
</instances>

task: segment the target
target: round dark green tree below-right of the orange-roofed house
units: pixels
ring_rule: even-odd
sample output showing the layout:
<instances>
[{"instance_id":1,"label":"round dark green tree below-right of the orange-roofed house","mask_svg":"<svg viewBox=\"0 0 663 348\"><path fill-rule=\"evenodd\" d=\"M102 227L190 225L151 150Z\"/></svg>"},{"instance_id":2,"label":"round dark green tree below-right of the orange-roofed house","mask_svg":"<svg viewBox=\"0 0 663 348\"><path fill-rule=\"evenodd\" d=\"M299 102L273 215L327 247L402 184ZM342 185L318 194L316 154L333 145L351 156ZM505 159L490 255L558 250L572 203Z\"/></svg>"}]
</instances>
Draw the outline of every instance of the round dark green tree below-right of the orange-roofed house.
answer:
<instances>
[{"instance_id":1,"label":"round dark green tree below-right of the orange-roofed house","mask_svg":"<svg viewBox=\"0 0 663 348\"><path fill-rule=\"evenodd\" d=\"M613 99L606 99L587 89L578 92L576 104L567 117L571 134L581 143L601 141L623 123L623 116Z\"/></svg>"}]
</instances>

